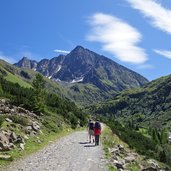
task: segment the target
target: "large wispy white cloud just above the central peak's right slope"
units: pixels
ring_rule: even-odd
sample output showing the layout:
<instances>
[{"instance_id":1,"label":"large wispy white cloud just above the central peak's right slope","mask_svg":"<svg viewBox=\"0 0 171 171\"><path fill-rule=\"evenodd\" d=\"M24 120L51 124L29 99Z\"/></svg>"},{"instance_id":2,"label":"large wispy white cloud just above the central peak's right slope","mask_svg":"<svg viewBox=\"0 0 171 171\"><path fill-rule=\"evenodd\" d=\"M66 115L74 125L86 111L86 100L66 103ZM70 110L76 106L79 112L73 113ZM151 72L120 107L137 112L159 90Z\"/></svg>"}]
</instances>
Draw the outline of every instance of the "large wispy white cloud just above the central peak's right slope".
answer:
<instances>
[{"instance_id":1,"label":"large wispy white cloud just above the central peak's right slope","mask_svg":"<svg viewBox=\"0 0 171 171\"><path fill-rule=\"evenodd\" d=\"M96 13L89 18L91 31L88 41L102 43L103 50L110 52L119 60L142 64L147 60L144 49L137 46L141 34L126 22L111 15Z\"/></svg>"}]
</instances>

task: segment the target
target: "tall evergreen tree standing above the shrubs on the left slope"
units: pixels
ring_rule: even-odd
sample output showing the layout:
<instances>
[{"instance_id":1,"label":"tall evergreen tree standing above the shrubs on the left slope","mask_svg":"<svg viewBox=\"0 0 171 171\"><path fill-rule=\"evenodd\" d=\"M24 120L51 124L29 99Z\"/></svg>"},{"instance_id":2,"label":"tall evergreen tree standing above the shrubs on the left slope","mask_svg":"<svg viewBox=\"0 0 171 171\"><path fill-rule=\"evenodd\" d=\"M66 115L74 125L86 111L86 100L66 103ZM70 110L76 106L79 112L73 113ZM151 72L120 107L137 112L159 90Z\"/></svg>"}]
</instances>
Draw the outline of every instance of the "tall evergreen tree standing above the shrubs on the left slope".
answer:
<instances>
[{"instance_id":1,"label":"tall evergreen tree standing above the shrubs on the left slope","mask_svg":"<svg viewBox=\"0 0 171 171\"><path fill-rule=\"evenodd\" d=\"M37 114L44 111L44 79L41 74L36 74L33 80L33 108Z\"/></svg>"}]
</instances>

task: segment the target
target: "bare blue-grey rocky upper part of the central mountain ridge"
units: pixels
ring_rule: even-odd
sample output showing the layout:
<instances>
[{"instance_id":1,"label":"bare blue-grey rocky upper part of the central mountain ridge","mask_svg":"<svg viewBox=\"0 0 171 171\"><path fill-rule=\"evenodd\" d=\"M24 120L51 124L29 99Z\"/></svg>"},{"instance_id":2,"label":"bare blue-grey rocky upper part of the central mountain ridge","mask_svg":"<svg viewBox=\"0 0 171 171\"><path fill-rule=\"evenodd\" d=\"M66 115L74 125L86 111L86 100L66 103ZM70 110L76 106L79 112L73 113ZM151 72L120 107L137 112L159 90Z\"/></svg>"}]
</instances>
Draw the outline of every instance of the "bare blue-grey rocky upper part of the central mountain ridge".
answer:
<instances>
[{"instance_id":1,"label":"bare blue-grey rocky upper part of the central mountain ridge","mask_svg":"<svg viewBox=\"0 0 171 171\"><path fill-rule=\"evenodd\" d=\"M22 58L14 65L34 69L55 81L92 83L100 89L105 87L106 90L120 91L148 82L140 74L81 46L67 55L42 59L40 62ZM104 83L106 80L108 83Z\"/></svg>"}]
</instances>

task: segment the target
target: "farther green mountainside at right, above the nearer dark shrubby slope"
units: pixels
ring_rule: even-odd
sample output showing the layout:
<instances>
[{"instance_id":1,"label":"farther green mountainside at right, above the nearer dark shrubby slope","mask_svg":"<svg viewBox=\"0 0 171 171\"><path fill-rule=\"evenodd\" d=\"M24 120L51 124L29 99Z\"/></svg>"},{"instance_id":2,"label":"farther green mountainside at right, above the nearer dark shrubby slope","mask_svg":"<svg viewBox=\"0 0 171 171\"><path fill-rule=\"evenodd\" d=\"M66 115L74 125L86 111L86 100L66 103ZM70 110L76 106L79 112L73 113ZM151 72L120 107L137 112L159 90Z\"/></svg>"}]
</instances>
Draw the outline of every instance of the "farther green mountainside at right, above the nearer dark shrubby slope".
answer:
<instances>
[{"instance_id":1,"label":"farther green mountainside at right, above the nearer dark shrubby slope","mask_svg":"<svg viewBox=\"0 0 171 171\"><path fill-rule=\"evenodd\" d=\"M140 126L171 127L171 75L144 87L120 93L115 98L91 107L98 114L115 116Z\"/></svg>"}]
</instances>

